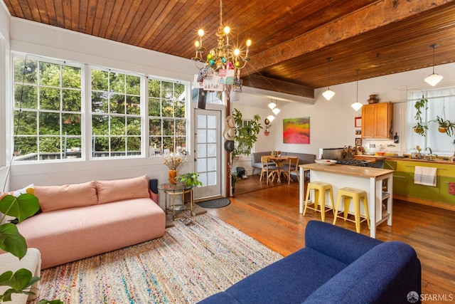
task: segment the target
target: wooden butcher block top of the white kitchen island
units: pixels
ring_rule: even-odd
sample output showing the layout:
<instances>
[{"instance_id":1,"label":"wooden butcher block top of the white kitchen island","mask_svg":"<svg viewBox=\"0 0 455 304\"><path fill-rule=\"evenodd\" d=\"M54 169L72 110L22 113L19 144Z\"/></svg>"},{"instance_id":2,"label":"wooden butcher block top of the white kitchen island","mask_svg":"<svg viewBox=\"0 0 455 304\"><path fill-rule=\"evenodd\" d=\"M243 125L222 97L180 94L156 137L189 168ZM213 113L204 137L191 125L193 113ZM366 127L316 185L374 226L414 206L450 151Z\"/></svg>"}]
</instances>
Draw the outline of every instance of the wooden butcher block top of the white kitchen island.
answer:
<instances>
[{"instance_id":1,"label":"wooden butcher block top of the white kitchen island","mask_svg":"<svg viewBox=\"0 0 455 304\"><path fill-rule=\"evenodd\" d=\"M301 164L299 165L299 167L304 168L306 170L316 170L368 178L382 177L383 175L394 172L393 170L389 169L348 166L346 164Z\"/></svg>"}]
</instances>

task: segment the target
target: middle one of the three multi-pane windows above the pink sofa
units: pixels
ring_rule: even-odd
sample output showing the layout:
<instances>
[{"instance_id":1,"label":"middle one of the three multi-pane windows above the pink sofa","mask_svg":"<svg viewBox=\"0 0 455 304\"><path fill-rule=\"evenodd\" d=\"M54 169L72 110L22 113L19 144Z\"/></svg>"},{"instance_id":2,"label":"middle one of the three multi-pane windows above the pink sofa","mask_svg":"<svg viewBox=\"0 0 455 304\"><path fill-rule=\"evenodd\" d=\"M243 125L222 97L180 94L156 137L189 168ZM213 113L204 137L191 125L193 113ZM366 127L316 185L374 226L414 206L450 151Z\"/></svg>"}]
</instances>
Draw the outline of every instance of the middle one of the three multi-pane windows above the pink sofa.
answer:
<instances>
[{"instance_id":1,"label":"middle one of the three multi-pane windows above the pink sofa","mask_svg":"<svg viewBox=\"0 0 455 304\"><path fill-rule=\"evenodd\" d=\"M92 68L92 157L141 155L141 77Z\"/></svg>"}]
</instances>

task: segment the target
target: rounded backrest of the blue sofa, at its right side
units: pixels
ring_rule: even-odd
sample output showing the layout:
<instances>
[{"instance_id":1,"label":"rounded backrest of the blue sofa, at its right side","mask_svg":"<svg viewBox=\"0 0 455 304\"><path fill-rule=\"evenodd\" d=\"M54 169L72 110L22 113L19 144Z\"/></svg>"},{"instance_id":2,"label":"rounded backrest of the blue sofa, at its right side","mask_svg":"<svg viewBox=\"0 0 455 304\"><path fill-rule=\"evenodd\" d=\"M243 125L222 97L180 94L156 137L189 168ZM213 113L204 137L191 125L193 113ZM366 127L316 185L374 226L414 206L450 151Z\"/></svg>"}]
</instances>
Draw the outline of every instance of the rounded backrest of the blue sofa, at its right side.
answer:
<instances>
[{"instance_id":1,"label":"rounded backrest of the blue sofa, at its right side","mask_svg":"<svg viewBox=\"0 0 455 304\"><path fill-rule=\"evenodd\" d=\"M407 303L421 294L421 266L414 249L400 241L381 243L321 285L304 303Z\"/></svg>"}]
</instances>

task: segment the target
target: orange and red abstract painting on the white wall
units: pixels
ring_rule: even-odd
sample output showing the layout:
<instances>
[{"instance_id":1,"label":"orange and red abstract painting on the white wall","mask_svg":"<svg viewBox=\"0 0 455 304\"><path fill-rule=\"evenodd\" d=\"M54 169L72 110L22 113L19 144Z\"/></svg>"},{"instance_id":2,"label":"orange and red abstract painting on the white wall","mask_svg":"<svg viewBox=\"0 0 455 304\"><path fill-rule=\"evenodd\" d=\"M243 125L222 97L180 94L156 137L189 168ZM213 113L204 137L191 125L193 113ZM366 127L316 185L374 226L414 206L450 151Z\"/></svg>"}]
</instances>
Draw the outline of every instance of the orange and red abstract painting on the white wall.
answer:
<instances>
[{"instance_id":1,"label":"orange and red abstract painting on the white wall","mask_svg":"<svg viewBox=\"0 0 455 304\"><path fill-rule=\"evenodd\" d=\"M284 144L310 143L310 117L286 118L283 120Z\"/></svg>"}]
</instances>

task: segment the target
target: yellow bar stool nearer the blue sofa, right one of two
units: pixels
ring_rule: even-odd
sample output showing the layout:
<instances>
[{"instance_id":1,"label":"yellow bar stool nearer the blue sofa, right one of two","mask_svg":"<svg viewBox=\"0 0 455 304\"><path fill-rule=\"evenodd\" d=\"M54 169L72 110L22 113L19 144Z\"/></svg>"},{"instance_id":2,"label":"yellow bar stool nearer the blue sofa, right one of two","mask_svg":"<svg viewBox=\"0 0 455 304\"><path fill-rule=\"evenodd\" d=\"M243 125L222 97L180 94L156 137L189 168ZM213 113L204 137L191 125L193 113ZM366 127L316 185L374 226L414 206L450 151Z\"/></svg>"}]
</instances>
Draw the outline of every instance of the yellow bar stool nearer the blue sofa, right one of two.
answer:
<instances>
[{"instance_id":1,"label":"yellow bar stool nearer the blue sofa, right one of two","mask_svg":"<svg viewBox=\"0 0 455 304\"><path fill-rule=\"evenodd\" d=\"M346 221L352 221L355 223L355 230L360 233L360 223L363 221L367 221L368 228L370 228L370 217L368 216L368 200L367 200L367 192L365 192L362 189L355 189L351 187L345 187L341 188L338 190L338 199L336 200L336 210L335 210L335 219L333 219L333 225L336 223L336 219L338 217L338 214L341 214L341 212L338 212L340 209L340 204L341 204L341 198L344 199L344 211L341 211L344 213L344 220ZM349 211L349 204L350 204L350 199L352 199L353 204L354 204L354 220L348 219L348 211ZM365 216L363 220L360 221L360 199L363 201L363 207L365 208Z\"/></svg>"}]
</instances>

